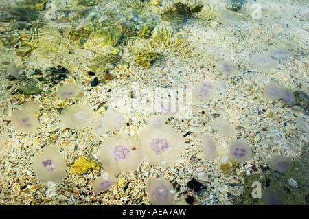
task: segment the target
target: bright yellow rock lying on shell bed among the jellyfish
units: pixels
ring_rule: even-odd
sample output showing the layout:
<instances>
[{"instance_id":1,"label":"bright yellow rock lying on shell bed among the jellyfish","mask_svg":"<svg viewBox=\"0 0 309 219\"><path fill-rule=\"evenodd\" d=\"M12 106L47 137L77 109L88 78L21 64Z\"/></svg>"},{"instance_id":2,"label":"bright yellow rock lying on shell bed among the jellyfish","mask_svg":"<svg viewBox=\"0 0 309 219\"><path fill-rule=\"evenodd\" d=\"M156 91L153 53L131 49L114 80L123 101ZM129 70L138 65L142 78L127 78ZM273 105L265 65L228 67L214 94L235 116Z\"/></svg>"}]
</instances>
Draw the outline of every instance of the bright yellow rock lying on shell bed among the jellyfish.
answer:
<instances>
[{"instance_id":1,"label":"bright yellow rock lying on shell bed among the jellyfish","mask_svg":"<svg viewBox=\"0 0 309 219\"><path fill-rule=\"evenodd\" d=\"M89 170L100 170L98 161L88 157L80 157L71 167L71 174L84 174Z\"/></svg>"}]
</instances>

